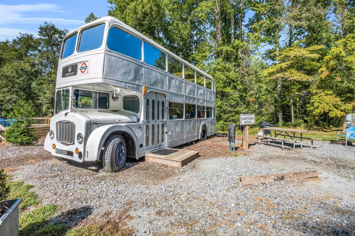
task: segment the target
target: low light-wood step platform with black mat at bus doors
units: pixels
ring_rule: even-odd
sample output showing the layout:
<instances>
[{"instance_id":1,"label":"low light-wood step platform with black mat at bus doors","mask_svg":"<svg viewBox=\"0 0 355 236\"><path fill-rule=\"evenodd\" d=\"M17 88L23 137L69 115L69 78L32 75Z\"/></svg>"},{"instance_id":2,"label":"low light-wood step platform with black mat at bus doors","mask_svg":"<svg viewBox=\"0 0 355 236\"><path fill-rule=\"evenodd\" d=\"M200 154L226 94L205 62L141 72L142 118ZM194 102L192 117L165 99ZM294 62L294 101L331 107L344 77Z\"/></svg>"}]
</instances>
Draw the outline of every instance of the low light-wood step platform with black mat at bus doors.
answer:
<instances>
[{"instance_id":1,"label":"low light-wood step platform with black mat at bus doors","mask_svg":"<svg viewBox=\"0 0 355 236\"><path fill-rule=\"evenodd\" d=\"M173 148L167 148L171 150L178 150ZM199 157L199 151L190 151L190 150L179 150L169 155L160 155L149 153L146 154L146 161L161 163L168 166L174 167L183 167L187 165L187 163L195 160Z\"/></svg>"}]
</instances>

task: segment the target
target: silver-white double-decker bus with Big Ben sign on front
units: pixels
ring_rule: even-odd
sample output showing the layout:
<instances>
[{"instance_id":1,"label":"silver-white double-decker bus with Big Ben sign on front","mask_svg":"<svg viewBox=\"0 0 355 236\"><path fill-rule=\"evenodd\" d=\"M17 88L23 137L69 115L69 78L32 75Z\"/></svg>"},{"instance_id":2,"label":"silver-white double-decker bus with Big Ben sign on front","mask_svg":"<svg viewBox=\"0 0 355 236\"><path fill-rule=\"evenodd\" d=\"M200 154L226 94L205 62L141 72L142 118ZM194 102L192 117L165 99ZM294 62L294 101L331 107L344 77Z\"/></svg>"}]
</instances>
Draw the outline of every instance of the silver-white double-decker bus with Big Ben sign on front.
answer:
<instances>
[{"instance_id":1,"label":"silver-white double-decker bus with Big Ben sign on front","mask_svg":"<svg viewBox=\"0 0 355 236\"><path fill-rule=\"evenodd\" d=\"M115 172L127 157L212 136L215 105L211 76L103 17L63 40L44 148L58 160L102 161Z\"/></svg>"}]
</instances>

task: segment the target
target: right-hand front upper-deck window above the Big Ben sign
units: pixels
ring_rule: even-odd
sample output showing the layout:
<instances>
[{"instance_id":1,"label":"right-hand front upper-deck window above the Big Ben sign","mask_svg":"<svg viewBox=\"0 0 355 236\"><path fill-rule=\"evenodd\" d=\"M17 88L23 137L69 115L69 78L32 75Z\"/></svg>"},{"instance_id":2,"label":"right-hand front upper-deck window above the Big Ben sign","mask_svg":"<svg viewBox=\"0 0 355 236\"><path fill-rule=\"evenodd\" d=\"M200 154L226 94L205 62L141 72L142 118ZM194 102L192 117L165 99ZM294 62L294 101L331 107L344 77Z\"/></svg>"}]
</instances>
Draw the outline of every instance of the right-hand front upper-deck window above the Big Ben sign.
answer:
<instances>
[{"instance_id":1,"label":"right-hand front upper-deck window above the Big Ben sign","mask_svg":"<svg viewBox=\"0 0 355 236\"><path fill-rule=\"evenodd\" d=\"M81 32L78 52L86 52L101 47L104 38L105 24L84 29Z\"/></svg>"}]
</instances>

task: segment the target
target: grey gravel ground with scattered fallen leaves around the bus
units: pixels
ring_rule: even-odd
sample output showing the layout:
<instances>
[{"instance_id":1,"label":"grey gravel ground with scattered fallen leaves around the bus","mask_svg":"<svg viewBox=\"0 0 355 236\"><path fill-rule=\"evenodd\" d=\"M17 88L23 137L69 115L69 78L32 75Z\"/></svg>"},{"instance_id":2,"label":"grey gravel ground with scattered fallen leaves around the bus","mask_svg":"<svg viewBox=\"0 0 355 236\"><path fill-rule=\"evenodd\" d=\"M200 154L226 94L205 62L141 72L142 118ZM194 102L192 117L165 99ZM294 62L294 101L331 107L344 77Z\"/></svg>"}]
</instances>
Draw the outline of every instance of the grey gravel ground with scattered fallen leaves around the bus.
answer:
<instances>
[{"instance_id":1,"label":"grey gravel ground with scattered fallen leaves around the bus","mask_svg":"<svg viewBox=\"0 0 355 236\"><path fill-rule=\"evenodd\" d=\"M138 160L112 174L97 164L57 161L43 146L3 146L0 168L34 185L41 204L61 205L53 221L72 226L123 218L135 235L355 234L353 149L315 142L313 149L282 151L254 142L231 155L227 139L215 137L183 147L201 156L182 168ZM320 175L238 183L240 175L305 169Z\"/></svg>"}]
</instances>

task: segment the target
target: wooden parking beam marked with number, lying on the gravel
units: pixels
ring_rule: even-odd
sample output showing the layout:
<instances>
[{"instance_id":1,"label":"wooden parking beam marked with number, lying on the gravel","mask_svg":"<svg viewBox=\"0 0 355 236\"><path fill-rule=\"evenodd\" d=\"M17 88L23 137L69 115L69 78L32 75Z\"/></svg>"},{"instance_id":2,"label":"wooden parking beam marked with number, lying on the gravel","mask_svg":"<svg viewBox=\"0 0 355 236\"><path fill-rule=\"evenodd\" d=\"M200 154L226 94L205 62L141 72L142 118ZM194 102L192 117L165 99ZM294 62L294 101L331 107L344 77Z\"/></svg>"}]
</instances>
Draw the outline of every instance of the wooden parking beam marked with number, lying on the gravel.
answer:
<instances>
[{"instance_id":1,"label":"wooden parking beam marked with number, lying on the gravel","mask_svg":"<svg viewBox=\"0 0 355 236\"><path fill-rule=\"evenodd\" d=\"M257 184L278 180L296 180L318 177L318 172L314 169L309 171L293 171L287 173L244 175L239 177L242 185Z\"/></svg>"}]
</instances>

